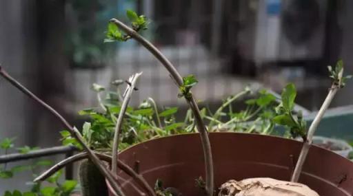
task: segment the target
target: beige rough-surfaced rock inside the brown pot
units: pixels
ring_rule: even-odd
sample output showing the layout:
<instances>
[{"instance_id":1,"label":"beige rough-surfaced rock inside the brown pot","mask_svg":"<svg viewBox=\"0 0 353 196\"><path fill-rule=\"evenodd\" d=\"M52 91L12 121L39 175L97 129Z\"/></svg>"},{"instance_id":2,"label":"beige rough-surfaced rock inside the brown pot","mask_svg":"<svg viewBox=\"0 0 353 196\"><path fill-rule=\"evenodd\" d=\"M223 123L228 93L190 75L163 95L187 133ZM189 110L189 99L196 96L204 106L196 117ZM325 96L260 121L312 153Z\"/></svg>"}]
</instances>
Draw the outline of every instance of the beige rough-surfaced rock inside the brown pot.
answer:
<instances>
[{"instance_id":1,"label":"beige rough-surfaced rock inside the brown pot","mask_svg":"<svg viewBox=\"0 0 353 196\"><path fill-rule=\"evenodd\" d=\"M229 180L219 188L219 196L319 196L304 184L258 177Z\"/></svg>"}]
</instances>

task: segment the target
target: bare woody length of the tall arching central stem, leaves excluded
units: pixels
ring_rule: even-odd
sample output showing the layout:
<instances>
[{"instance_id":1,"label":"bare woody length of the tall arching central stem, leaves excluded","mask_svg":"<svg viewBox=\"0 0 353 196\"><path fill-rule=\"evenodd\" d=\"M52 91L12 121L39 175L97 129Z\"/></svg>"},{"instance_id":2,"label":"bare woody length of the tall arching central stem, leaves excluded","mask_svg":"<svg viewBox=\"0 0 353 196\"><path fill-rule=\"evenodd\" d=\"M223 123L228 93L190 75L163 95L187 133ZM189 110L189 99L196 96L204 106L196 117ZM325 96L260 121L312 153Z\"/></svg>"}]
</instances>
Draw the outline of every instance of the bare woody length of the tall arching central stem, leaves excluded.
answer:
<instances>
[{"instance_id":1,"label":"bare woody length of the tall arching central stem, leaves excluded","mask_svg":"<svg viewBox=\"0 0 353 196\"><path fill-rule=\"evenodd\" d=\"M151 54L154 55L165 67L165 69L168 70L170 73L170 76L173 78L175 83L180 87L183 85L183 78L175 69L175 67L168 61L168 59L155 47L150 43L150 41L146 40L141 36L139 33L136 31L132 30L132 28L129 28L127 25L122 23L121 21L117 19L110 19L110 22L114 23L115 25L118 26L123 32L128 34L132 39L135 39L143 47L145 47ZM191 92L190 92L191 94ZM190 98L185 98L185 100L188 102L190 108L192 109L192 112L194 113L194 118L196 120L196 126L197 129L200 133L200 138L201 138L201 144L203 146L203 155L205 157L205 178L206 178L206 192L208 195L212 196L214 194L214 173L213 173L213 161L212 161L212 151L211 151L211 145L210 145L210 139L208 138L208 131L205 127L205 124L203 123L203 120L201 118L201 113L199 110L199 107L196 104L196 101L194 99L194 96L190 96Z\"/></svg>"}]
</instances>

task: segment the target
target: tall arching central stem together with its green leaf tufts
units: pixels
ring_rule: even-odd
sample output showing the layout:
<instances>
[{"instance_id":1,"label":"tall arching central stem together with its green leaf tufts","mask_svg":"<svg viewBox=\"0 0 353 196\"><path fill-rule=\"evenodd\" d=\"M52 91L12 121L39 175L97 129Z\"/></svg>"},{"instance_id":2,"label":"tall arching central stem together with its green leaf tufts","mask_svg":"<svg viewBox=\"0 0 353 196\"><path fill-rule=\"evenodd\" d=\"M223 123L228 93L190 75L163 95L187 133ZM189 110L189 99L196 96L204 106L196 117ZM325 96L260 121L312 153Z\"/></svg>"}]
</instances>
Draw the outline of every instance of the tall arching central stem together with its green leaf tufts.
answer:
<instances>
[{"instance_id":1,"label":"tall arching central stem together with its green leaf tufts","mask_svg":"<svg viewBox=\"0 0 353 196\"><path fill-rule=\"evenodd\" d=\"M168 59L157 49L157 47L152 45L150 41L147 41L145 38L143 38L143 36L138 33L141 30L145 30L146 25L148 24L148 22L145 22L145 17L137 17L137 14L132 13L131 10L127 12L127 15L130 21L132 22L132 28L128 27L117 19L111 19L110 25L114 24L117 27L111 28L110 25L108 25L108 33L110 31L116 32L118 36L117 39L114 39L115 36L111 36L111 34L109 33L107 34L107 39L109 39L109 41L126 41L130 38L135 39L162 63L165 69L167 69L170 73L170 76L172 77L174 82L178 85L181 94L188 102L192 112L194 113L196 127L200 133L201 143L203 146L203 155L205 157L206 191L208 195L211 196L214 194L214 175L210 140L208 138L208 131L205 127L205 124L203 123L199 107L197 106L196 100L194 99L194 97L192 96L192 92L190 91L190 89L194 85L196 85L197 80L194 78L194 76L186 76L182 78L179 72L177 72L177 69L175 69L174 65L172 65L172 63L168 61ZM122 35L121 33L119 34L119 29L125 32L125 35Z\"/></svg>"}]
</instances>

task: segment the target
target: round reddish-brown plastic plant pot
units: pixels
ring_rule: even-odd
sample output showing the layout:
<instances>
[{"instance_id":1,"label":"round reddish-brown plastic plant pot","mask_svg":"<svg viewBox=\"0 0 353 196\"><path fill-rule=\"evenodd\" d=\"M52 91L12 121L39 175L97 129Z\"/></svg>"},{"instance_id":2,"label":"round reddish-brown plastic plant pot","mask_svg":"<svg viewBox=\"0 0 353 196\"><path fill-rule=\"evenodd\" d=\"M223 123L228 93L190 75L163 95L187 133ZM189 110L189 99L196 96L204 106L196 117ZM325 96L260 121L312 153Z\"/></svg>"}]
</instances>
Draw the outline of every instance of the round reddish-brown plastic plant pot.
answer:
<instances>
[{"instance_id":1,"label":"round reddish-brown plastic plant pot","mask_svg":"<svg viewBox=\"0 0 353 196\"><path fill-rule=\"evenodd\" d=\"M272 177L288 181L301 150L301 142L295 140L247 133L210 133L210 142L216 188L228 179ZM205 175L197 133L143 142L121 152L119 158L139 171L152 187L161 179L165 187L177 188L183 195L203 195L194 186L195 179ZM119 178L126 195L140 195L132 187L138 186L131 177L119 171ZM321 196L352 195L353 162L312 146L300 182Z\"/></svg>"}]
</instances>

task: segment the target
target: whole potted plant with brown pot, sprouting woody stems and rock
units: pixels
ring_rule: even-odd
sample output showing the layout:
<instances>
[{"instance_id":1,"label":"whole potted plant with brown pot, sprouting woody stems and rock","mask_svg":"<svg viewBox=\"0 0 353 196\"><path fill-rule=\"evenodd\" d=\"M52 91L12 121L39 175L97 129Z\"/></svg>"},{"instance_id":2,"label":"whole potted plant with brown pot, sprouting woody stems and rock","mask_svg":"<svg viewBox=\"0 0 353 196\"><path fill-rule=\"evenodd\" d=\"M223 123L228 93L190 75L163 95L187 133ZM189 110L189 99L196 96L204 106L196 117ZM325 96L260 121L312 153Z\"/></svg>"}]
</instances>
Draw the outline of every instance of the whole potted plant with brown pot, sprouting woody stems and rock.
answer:
<instances>
[{"instance_id":1,"label":"whole potted plant with brown pot, sprouting woody stems and rock","mask_svg":"<svg viewBox=\"0 0 353 196\"><path fill-rule=\"evenodd\" d=\"M117 19L111 20L108 29L108 41L136 39L161 61L177 85L179 85L179 96L185 98L190 105L192 121L194 122L192 130L196 127L199 134L174 135L142 142L122 151L117 159L112 159L109 155L92 151L89 142L90 136L93 135L91 134L91 129L83 127L85 129L83 130L85 132L83 135L85 136L81 135L75 127L68 124L54 109L19 85L3 69L0 69L0 74L9 80L10 83L40 102L41 105L60 118L68 129L68 132L63 132L65 140L67 139L68 142L81 146L86 151L55 165L38 179L48 177L50 173L68 162L89 157L107 179L110 195L141 195L142 193L148 195L180 195L180 193L185 195L214 195L214 192L219 192L219 195L244 195L244 191L247 188L251 188L254 191L252 193L256 193L256 195L265 195L269 193L268 191L272 191L270 193L275 192L277 195L317 195L314 190L321 195L349 195L352 192L352 186L350 186L352 178L349 177L353 175L352 162L325 149L311 146L312 136L323 113L330 105L336 91L344 85L345 78L343 77L343 63L341 61L337 63L336 69L330 70L334 82L323 103L323 107L321 107L309 131L306 132L305 122L301 114L294 115L292 113L296 97L294 85L287 85L283 90L282 102L276 107L276 116L272 121L290 127L290 133L293 136L301 136L304 140L303 144L295 140L268 135L208 133L203 122L203 114L200 112L190 91L196 85L197 80L194 76L181 77L168 59L137 33L145 28L146 21L143 16L138 16L136 13L129 11L128 17L132 21L132 28L128 28ZM120 32L119 29L126 34ZM112 129L110 134L115 135L115 139L119 138L119 134L121 134L121 126L128 124L128 122L123 122L123 116L130 115L127 106L128 100L133 89L136 89L134 85L138 76L139 74L134 74L127 82L128 87L123 94L122 104L115 108L115 113L119 113L118 117L112 115L111 111L114 111L114 109L109 109L105 105L102 106L103 111L106 110L104 115L110 114L112 120L115 119L115 123L109 124L110 122L105 120L103 118L105 116L101 115L101 113L92 113L94 118L107 123L105 128L109 127L109 129ZM91 113L92 111L88 112ZM141 115L144 112L146 111L139 111L139 114ZM140 123L146 119L142 116L141 118L130 118L129 120ZM213 124L216 120L211 118L210 122ZM141 126L143 125L141 124ZM173 124L173 126L179 125ZM132 133L134 132L133 128ZM154 131L158 133L161 130L163 129ZM69 133L71 136L68 135ZM114 140L113 144L110 145L117 146L116 142L119 143L121 141ZM307 156L308 153L309 156ZM212 158L212 155L214 158ZM112 156L117 156L117 148L112 149ZM117 167L120 169L117 173L113 173L114 167L111 168L112 171L108 170L110 167L103 165L99 159L108 160L113 165L116 162ZM297 159L298 161L296 161ZM320 160L325 160L325 162L317 164ZM304 172L302 172L304 163ZM335 167L334 164L339 164L340 167ZM135 170L131 168L135 168ZM214 173L216 173L215 178ZM194 179L200 175L205 176L205 182L203 182L202 178L198 178L196 180L198 188L195 188ZM301 176L303 184L296 183L299 176ZM273 179L248 179L249 177L272 177ZM159 178L161 181L157 180ZM286 182L279 181L279 179ZM292 182L287 182L289 179ZM156 181L155 190L152 190L151 186ZM332 184L335 186L332 186ZM214 185L221 187L221 189L214 188Z\"/></svg>"}]
</instances>

